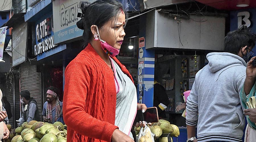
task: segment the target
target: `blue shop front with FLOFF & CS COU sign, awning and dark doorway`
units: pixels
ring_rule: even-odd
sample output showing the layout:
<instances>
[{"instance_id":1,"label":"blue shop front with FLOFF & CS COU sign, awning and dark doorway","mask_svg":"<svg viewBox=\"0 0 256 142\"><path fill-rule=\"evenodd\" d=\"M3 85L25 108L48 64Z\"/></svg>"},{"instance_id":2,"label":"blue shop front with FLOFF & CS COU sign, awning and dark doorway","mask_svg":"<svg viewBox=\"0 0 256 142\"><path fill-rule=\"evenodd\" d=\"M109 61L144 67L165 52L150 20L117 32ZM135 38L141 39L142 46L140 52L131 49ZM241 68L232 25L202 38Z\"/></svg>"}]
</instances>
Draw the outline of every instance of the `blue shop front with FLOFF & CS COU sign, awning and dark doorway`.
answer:
<instances>
[{"instance_id":1,"label":"blue shop front with FLOFF & CS COU sign, awning and dark doorway","mask_svg":"<svg viewBox=\"0 0 256 142\"><path fill-rule=\"evenodd\" d=\"M55 44L54 24L51 0L40 1L24 19L32 25L32 50L37 62L37 72L42 74L42 103L46 101L46 91L50 86L57 87L59 99L63 99L63 74L70 52L66 44ZM73 51L73 53L76 53ZM63 68L64 64L64 68Z\"/></svg>"}]
</instances>

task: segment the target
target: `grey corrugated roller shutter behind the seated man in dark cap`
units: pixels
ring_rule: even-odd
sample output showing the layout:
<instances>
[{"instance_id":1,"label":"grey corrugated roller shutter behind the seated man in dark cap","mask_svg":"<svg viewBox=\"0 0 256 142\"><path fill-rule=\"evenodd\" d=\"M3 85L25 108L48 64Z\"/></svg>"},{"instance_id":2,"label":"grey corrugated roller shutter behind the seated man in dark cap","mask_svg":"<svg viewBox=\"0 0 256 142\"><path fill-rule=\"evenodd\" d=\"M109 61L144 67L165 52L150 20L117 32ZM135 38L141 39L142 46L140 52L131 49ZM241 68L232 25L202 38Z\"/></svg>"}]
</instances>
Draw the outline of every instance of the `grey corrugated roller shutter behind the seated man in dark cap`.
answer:
<instances>
[{"instance_id":1,"label":"grey corrugated roller shutter behind the seated man in dark cap","mask_svg":"<svg viewBox=\"0 0 256 142\"><path fill-rule=\"evenodd\" d=\"M36 72L36 66L20 66L20 90L28 90L38 105L39 114L42 114L41 73Z\"/></svg>"}]
</instances>

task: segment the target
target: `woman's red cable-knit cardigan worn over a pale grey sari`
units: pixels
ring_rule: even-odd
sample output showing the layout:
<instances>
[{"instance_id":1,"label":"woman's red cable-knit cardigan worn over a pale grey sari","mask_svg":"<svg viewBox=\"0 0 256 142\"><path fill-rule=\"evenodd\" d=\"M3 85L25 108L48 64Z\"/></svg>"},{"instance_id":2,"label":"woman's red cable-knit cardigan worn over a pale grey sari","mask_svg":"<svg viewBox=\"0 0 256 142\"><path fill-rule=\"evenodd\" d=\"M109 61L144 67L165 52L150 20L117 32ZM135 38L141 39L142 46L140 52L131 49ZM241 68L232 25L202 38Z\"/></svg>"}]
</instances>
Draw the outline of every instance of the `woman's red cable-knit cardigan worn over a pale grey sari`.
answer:
<instances>
[{"instance_id":1,"label":"woman's red cable-knit cardigan worn over a pale grey sari","mask_svg":"<svg viewBox=\"0 0 256 142\"><path fill-rule=\"evenodd\" d=\"M131 78L123 64L113 58ZM65 70L63 118L68 142L111 142L115 126L116 89L111 68L90 43Z\"/></svg>"}]
</instances>

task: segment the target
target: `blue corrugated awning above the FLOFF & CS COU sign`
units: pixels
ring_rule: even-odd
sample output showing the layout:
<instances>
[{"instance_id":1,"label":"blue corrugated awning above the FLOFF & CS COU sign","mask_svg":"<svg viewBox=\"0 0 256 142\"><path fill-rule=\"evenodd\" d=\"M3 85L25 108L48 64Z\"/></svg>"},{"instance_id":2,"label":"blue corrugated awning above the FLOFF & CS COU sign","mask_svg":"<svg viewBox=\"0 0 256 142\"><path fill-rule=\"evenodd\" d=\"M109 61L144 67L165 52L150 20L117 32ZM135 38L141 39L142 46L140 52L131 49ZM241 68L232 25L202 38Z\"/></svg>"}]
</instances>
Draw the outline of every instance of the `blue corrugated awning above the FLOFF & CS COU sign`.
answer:
<instances>
[{"instance_id":1,"label":"blue corrugated awning above the FLOFF & CS COU sign","mask_svg":"<svg viewBox=\"0 0 256 142\"><path fill-rule=\"evenodd\" d=\"M30 11L28 11L24 15L25 22L27 22L28 20L29 20L29 22L34 22L33 17L36 14L39 14L38 12L41 11L42 9L44 9L44 8L46 8L43 11L45 13L49 12L49 11L52 11L52 5L50 5L50 4L51 4L51 0L44 0L44 1L41 1L40 3L36 4ZM40 15L43 15L43 14L40 12Z\"/></svg>"}]
</instances>

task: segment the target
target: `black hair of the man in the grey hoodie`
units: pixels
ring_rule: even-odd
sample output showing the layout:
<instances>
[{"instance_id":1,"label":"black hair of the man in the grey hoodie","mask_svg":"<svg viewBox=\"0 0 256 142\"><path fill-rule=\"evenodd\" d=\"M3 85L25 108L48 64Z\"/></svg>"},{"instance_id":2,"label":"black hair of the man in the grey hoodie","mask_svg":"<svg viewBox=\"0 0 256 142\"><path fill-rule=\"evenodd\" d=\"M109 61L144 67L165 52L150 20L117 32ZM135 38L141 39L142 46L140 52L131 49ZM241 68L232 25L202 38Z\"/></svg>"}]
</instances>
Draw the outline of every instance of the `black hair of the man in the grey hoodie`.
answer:
<instances>
[{"instance_id":1,"label":"black hair of the man in the grey hoodie","mask_svg":"<svg viewBox=\"0 0 256 142\"><path fill-rule=\"evenodd\" d=\"M225 37L225 52L238 54L242 47L254 47L256 36L247 26L240 26L237 30L228 32Z\"/></svg>"}]
</instances>

